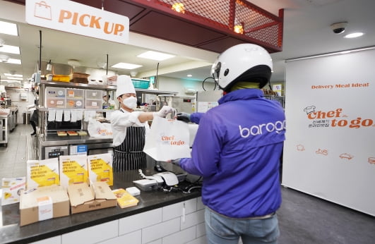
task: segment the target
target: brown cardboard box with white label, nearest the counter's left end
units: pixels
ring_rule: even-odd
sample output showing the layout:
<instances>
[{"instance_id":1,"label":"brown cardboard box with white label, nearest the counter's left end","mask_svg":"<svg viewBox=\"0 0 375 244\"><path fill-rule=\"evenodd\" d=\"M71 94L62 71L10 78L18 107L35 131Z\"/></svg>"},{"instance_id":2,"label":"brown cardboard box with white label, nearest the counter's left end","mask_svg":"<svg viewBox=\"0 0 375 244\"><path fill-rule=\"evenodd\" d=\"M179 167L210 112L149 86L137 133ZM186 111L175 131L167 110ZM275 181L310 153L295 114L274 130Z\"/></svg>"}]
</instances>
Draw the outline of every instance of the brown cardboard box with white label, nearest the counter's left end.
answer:
<instances>
[{"instance_id":1,"label":"brown cardboard box with white label, nearest the counter's left end","mask_svg":"<svg viewBox=\"0 0 375 244\"><path fill-rule=\"evenodd\" d=\"M69 215L69 197L61 185L25 190L20 195L20 226Z\"/></svg>"}]
</instances>

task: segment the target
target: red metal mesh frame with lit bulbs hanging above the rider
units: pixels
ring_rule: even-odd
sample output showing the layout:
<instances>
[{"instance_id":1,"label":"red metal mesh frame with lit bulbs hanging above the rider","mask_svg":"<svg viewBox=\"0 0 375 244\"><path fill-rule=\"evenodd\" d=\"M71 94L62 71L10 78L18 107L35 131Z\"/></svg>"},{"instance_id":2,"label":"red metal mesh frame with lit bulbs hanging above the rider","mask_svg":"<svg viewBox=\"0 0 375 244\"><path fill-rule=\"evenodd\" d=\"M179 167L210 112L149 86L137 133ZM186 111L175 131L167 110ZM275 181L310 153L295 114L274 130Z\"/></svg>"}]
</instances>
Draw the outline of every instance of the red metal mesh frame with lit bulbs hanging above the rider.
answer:
<instances>
[{"instance_id":1,"label":"red metal mesh frame with lit bulbs hanging above the rider","mask_svg":"<svg viewBox=\"0 0 375 244\"><path fill-rule=\"evenodd\" d=\"M249 42L282 49L282 14L279 16L264 11L262 8L242 0L155 0L155 4L181 11L182 16L189 16L197 23L208 25L227 32L238 28L238 35ZM234 33L234 35L237 35Z\"/></svg>"}]
</instances>

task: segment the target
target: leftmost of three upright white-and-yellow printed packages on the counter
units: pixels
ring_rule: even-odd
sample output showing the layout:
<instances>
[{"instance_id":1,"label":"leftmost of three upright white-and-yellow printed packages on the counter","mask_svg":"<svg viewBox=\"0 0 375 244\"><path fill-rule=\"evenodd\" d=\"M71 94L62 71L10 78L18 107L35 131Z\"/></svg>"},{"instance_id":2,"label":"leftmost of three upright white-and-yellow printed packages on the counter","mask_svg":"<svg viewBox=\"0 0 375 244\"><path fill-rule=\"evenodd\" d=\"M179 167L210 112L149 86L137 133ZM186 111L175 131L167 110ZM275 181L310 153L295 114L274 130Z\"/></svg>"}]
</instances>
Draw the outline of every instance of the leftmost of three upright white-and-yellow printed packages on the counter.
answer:
<instances>
[{"instance_id":1,"label":"leftmost of three upright white-and-yellow printed packages on the counter","mask_svg":"<svg viewBox=\"0 0 375 244\"><path fill-rule=\"evenodd\" d=\"M26 161L26 189L59 184L59 159Z\"/></svg>"}]
</instances>

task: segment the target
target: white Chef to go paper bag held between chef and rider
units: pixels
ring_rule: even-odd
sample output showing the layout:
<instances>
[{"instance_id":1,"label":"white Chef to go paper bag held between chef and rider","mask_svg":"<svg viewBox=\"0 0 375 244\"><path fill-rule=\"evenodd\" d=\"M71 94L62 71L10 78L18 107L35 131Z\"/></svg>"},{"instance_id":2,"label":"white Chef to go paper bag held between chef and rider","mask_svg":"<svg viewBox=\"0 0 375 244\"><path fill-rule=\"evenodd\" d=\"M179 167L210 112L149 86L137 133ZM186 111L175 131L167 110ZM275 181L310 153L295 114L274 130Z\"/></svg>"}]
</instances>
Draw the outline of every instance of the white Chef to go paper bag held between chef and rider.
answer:
<instances>
[{"instance_id":1,"label":"white Chef to go paper bag held between chef and rider","mask_svg":"<svg viewBox=\"0 0 375 244\"><path fill-rule=\"evenodd\" d=\"M155 116L143 152L156 161L191 157L188 124Z\"/></svg>"}]
</instances>

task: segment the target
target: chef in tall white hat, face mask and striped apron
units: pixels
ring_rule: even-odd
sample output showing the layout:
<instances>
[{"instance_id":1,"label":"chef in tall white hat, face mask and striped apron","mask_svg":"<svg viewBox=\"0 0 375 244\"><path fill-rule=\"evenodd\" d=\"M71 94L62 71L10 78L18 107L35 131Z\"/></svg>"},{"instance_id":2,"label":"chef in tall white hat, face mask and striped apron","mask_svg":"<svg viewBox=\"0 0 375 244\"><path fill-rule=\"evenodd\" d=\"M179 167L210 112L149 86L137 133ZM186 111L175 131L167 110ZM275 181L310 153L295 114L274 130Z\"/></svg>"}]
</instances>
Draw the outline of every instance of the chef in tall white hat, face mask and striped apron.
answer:
<instances>
[{"instance_id":1,"label":"chef in tall white hat, face mask and striped apron","mask_svg":"<svg viewBox=\"0 0 375 244\"><path fill-rule=\"evenodd\" d=\"M170 106L163 106L158 112L133 111L137 106L136 90L129 75L117 78L116 97L120 109L112 113L113 171L128 171L146 167L143 152L145 135L150 130L148 121L154 116L165 117L172 113Z\"/></svg>"}]
</instances>

